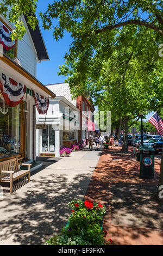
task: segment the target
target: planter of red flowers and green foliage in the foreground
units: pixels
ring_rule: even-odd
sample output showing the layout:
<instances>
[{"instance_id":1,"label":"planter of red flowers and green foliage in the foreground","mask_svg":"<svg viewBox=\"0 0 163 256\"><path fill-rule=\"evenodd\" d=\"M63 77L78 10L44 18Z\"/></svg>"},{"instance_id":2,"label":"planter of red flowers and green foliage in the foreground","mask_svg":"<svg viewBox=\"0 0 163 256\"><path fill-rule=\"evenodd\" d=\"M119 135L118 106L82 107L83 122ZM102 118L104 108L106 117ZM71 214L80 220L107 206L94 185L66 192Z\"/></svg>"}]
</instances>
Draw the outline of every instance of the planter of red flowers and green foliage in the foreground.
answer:
<instances>
[{"instance_id":1,"label":"planter of red flowers and green foliage in the foreground","mask_svg":"<svg viewBox=\"0 0 163 256\"><path fill-rule=\"evenodd\" d=\"M47 245L108 245L105 242L106 230L102 230L105 205L92 200L72 200L68 203L72 214L61 235L46 241Z\"/></svg>"}]
</instances>

